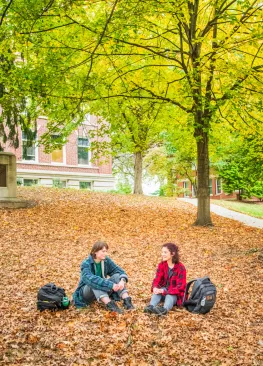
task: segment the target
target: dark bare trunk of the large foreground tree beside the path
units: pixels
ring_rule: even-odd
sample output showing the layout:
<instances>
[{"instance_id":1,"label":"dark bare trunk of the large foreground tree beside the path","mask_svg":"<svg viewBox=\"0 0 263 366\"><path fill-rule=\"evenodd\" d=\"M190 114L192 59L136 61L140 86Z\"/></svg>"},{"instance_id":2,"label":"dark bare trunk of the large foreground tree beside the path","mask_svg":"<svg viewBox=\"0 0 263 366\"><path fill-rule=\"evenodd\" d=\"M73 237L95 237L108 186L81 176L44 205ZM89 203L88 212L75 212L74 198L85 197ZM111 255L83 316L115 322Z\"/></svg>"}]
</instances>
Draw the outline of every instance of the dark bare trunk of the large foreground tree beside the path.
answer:
<instances>
[{"instance_id":1,"label":"dark bare trunk of the large foreground tree beside the path","mask_svg":"<svg viewBox=\"0 0 263 366\"><path fill-rule=\"evenodd\" d=\"M197 219L194 225L211 226L210 194L209 194L209 153L208 134L198 129L197 142Z\"/></svg>"}]
</instances>

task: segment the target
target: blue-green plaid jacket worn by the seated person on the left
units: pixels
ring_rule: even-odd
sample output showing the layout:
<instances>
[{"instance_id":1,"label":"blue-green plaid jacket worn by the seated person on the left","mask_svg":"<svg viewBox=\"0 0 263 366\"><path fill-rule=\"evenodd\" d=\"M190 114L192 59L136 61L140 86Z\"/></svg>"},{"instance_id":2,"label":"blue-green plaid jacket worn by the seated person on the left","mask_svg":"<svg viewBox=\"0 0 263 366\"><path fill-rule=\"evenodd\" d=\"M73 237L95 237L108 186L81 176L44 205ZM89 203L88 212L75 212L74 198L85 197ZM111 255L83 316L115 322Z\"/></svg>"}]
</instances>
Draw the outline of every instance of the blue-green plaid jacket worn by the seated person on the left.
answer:
<instances>
[{"instance_id":1,"label":"blue-green plaid jacket worn by the seated person on the left","mask_svg":"<svg viewBox=\"0 0 263 366\"><path fill-rule=\"evenodd\" d=\"M117 266L109 257L106 257L104 261L101 261L102 277L96 276L95 263L91 255L81 263L80 267L80 281L76 291L73 294L73 301L77 308L87 306L87 303L82 297L82 288L85 285L105 292L112 291L114 283L107 279L107 276L111 277L114 274L120 274L120 278L124 278L128 282L128 276L124 270Z\"/></svg>"}]
</instances>

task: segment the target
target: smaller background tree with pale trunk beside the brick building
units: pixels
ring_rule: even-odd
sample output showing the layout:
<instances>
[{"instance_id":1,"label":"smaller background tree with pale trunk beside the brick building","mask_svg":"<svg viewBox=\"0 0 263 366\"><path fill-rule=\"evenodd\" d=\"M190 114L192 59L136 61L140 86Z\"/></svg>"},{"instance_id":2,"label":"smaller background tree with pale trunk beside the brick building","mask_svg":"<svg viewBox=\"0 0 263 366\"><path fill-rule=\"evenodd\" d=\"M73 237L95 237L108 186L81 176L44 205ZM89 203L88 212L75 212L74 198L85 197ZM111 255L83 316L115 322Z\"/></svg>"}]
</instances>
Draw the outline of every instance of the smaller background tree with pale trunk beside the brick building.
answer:
<instances>
[{"instance_id":1,"label":"smaller background tree with pale trunk beside the brick building","mask_svg":"<svg viewBox=\"0 0 263 366\"><path fill-rule=\"evenodd\" d=\"M113 157L123 154L132 154L134 160L134 187L133 193L143 194L143 159L149 149L159 140L162 129L163 114L162 104L148 100L132 100L122 98L105 103L98 101L91 106L104 120L99 124L93 136L109 135L109 153ZM101 151L105 144L94 143L94 149ZM105 152L105 149L104 149Z\"/></svg>"}]
</instances>

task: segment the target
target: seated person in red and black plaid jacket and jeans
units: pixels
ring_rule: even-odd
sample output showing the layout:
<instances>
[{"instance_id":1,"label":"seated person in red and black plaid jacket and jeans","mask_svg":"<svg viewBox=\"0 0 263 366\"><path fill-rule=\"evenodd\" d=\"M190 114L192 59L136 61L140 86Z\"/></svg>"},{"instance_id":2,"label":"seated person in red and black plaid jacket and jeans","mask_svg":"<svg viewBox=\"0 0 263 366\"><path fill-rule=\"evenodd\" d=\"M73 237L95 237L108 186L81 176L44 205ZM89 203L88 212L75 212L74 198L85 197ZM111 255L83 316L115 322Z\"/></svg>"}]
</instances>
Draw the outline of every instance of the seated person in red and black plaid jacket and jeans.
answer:
<instances>
[{"instance_id":1,"label":"seated person in red and black plaid jacket and jeans","mask_svg":"<svg viewBox=\"0 0 263 366\"><path fill-rule=\"evenodd\" d=\"M179 262L177 245L164 244L162 259L152 283L151 302L145 307L145 313L165 315L174 305L182 306L186 287L186 269ZM164 302L163 306L159 305L160 302Z\"/></svg>"}]
</instances>

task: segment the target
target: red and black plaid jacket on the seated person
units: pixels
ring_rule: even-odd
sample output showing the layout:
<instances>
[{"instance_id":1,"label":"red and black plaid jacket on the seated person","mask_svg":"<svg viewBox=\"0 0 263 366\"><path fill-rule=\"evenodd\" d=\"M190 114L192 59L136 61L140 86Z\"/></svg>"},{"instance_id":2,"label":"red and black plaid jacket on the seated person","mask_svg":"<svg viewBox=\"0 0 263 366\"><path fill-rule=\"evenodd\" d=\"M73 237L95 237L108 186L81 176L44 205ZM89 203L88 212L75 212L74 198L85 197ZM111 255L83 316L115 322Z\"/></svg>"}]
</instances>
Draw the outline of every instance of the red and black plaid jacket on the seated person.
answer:
<instances>
[{"instance_id":1,"label":"red and black plaid jacket on the seated person","mask_svg":"<svg viewBox=\"0 0 263 366\"><path fill-rule=\"evenodd\" d=\"M168 263L161 262L158 265L155 278L152 283L152 289L154 287L164 288L163 295L176 295L177 306L182 306L183 297L186 287L186 269L185 266L179 262L173 267L172 276L169 278Z\"/></svg>"}]
</instances>

